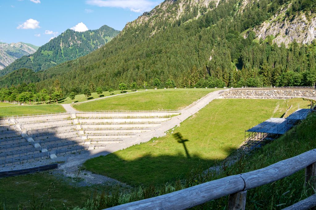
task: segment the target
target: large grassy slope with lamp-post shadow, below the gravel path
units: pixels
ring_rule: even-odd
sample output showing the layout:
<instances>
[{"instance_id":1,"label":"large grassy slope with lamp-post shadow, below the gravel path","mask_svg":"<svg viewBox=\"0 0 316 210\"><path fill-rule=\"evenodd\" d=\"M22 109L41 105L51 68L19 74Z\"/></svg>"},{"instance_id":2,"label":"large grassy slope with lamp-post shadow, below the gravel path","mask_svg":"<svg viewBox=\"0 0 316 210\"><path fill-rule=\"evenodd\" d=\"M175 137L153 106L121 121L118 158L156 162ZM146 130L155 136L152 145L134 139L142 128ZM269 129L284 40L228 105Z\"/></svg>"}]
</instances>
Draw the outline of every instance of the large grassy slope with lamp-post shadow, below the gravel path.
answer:
<instances>
[{"instance_id":1,"label":"large grassy slope with lamp-post shadow, below the gravel path","mask_svg":"<svg viewBox=\"0 0 316 210\"><path fill-rule=\"evenodd\" d=\"M203 169L224 160L244 142L244 130L270 117L281 117L292 104L307 107L309 101L219 99L181 123L179 133L188 150L169 133L115 153L90 159L86 169L132 184L159 184L183 177L201 164Z\"/></svg>"}]
</instances>

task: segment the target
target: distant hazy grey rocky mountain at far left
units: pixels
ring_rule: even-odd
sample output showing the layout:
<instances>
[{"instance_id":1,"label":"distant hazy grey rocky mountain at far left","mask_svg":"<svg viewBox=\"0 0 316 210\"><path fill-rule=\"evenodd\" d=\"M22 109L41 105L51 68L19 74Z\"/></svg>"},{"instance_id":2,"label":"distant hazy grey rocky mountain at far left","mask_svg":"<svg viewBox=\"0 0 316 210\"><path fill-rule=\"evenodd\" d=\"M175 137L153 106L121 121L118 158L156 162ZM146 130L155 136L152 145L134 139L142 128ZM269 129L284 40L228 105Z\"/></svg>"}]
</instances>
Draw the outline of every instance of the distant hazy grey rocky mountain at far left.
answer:
<instances>
[{"instance_id":1,"label":"distant hazy grey rocky mountain at far left","mask_svg":"<svg viewBox=\"0 0 316 210\"><path fill-rule=\"evenodd\" d=\"M0 70L23 55L36 52L38 48L38 46L23 42L10 44L0 42Z\"/></svg>"}]
</instances>

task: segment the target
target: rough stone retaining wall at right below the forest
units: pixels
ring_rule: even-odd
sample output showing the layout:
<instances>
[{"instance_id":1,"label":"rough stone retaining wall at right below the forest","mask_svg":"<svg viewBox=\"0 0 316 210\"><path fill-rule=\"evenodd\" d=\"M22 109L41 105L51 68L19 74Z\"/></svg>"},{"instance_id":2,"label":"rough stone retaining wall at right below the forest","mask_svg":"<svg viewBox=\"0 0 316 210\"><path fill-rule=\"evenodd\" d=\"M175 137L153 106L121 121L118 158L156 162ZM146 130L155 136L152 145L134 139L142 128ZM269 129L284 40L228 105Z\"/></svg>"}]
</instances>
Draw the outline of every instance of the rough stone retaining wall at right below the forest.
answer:
<instances>
[{"instance_id":1,"label":"rough stone retaining wall at right below the forest","mask_svg":"<svg viewBox=\"0 0 316 210\"><path fill-rule=\"evenodd\" d=\"M262 99L315 98L316 90L229 90L223 92L220 96L222 98Z\"/></svg>"}]
</instances>

